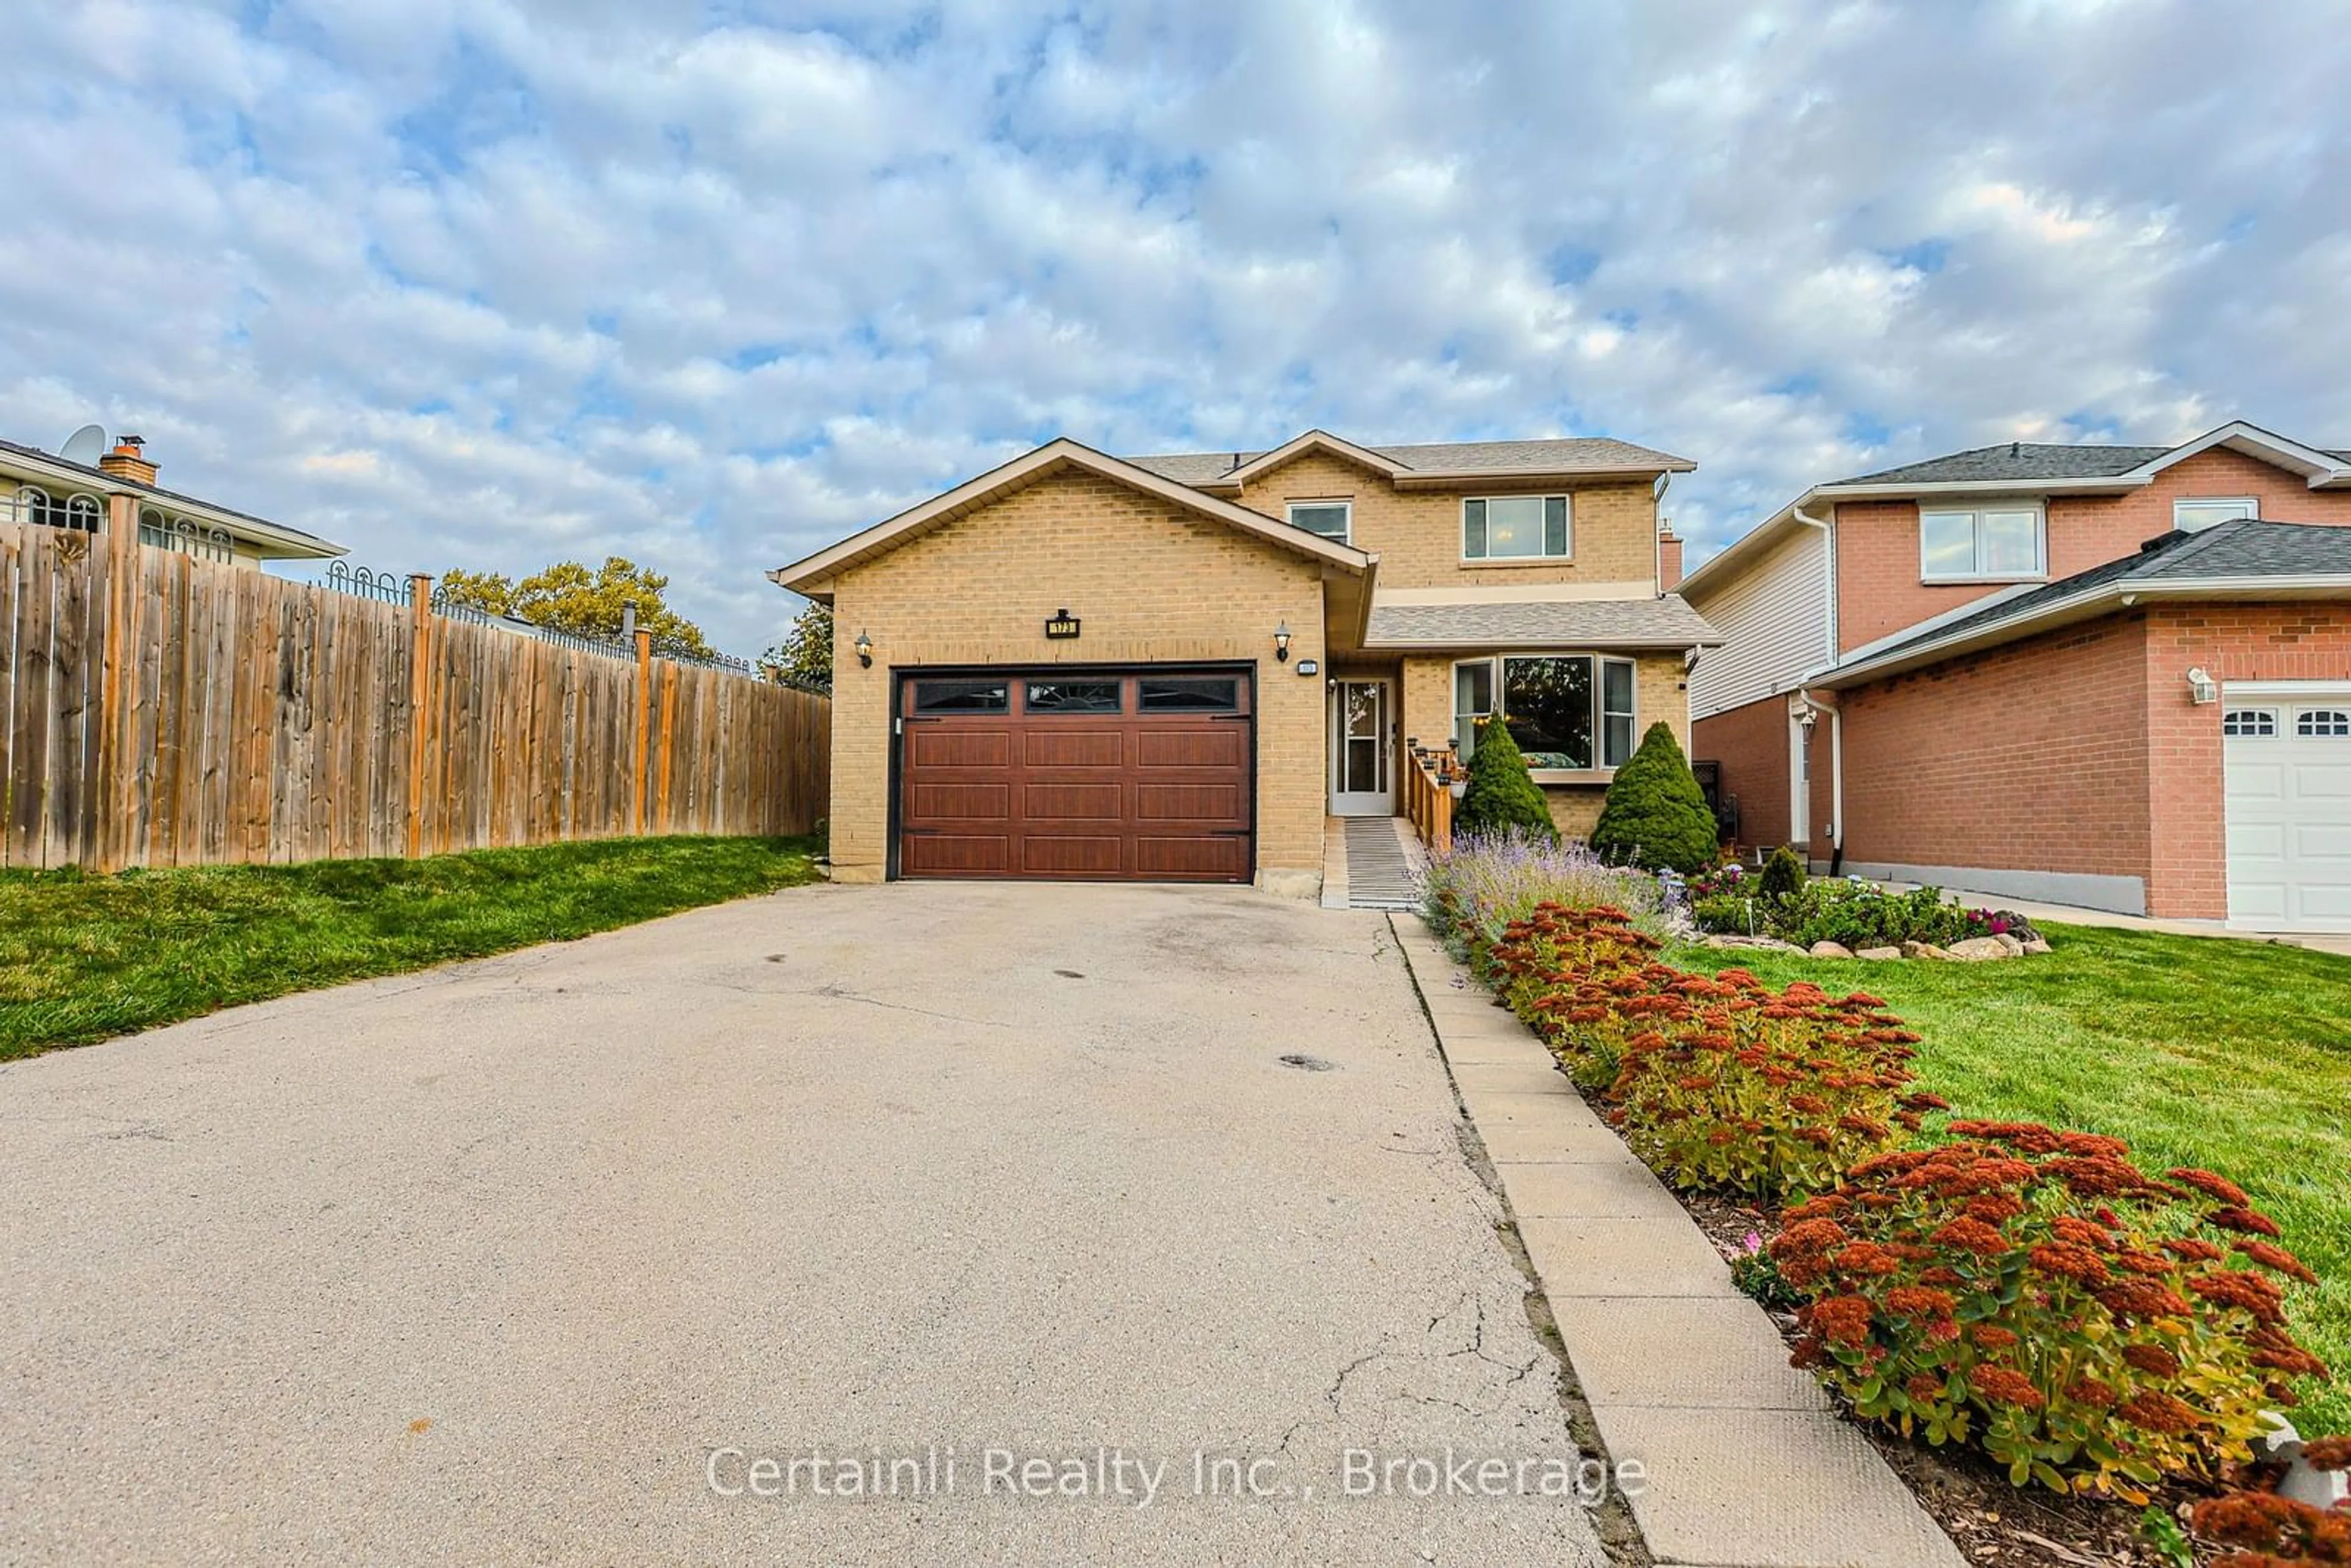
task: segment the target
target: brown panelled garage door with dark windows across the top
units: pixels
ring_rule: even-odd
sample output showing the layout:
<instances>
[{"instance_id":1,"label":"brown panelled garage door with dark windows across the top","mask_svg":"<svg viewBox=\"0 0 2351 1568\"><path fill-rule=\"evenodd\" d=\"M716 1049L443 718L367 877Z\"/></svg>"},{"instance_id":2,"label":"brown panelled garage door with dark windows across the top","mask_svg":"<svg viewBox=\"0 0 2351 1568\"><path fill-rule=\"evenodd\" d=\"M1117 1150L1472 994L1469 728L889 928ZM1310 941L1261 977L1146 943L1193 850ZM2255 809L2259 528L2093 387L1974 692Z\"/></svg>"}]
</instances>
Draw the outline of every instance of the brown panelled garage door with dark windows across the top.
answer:
<instances>
[{"instance_id":1,"label":"brown panelled garage door with dark windows across the top","mask_svg":"<svg viewBox=\"0 0 2351 1568\"><path fill-rule=\"evenodd\" d=\"M1251 672L903 675L898 875L1248 882Z\"/></svg>"}]
</instances>

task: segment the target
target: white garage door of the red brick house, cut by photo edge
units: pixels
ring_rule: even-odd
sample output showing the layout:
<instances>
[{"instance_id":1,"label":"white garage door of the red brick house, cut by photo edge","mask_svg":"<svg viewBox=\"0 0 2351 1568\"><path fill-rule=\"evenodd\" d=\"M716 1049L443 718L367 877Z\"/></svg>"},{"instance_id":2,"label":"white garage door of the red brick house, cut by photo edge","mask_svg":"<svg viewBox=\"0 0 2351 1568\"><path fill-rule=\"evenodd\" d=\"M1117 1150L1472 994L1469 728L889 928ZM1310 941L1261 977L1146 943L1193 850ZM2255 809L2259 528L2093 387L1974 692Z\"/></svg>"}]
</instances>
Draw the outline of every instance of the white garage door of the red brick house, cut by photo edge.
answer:
<instances>
[{"instance_id":1,"label":"white garage door of the red brick house, cut by photo edge","mask_svg":"<svg viewBox=\"0 0 2351 1568\"><path fill-rule=\"evenodd\" d=\"M2351 931L2351 682L2222 696L2229 924Z\"/></svg>"}]
</instances>

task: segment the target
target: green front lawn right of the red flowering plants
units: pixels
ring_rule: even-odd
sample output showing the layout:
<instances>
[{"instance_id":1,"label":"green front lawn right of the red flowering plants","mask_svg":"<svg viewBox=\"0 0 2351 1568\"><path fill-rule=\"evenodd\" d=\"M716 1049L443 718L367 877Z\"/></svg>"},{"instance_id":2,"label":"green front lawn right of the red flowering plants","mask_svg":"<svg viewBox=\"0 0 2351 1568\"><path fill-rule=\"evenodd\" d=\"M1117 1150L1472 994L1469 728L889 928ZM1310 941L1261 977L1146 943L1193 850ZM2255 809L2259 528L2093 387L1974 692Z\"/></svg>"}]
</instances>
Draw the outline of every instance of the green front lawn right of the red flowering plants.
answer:
<instances>
[{"instance_id":1,"label":"green front lawn right of the red flowering plants","mask_svg":"<svg viewBox=\"0 0 2351 1568\"><path fill-rule=\"evenodd\" d=\"M1686 969L1867 990L1923 1034L1958 1114L2128 1138L2146 1168L2208 1166L2259 1199L2323 1281L2297 1335L2337 1368L2304 1434L2351 1432L2351 959L2269 943L2048 926L2001 964L1855 964L1683 947Z\"/></svg>"}]
</instances>

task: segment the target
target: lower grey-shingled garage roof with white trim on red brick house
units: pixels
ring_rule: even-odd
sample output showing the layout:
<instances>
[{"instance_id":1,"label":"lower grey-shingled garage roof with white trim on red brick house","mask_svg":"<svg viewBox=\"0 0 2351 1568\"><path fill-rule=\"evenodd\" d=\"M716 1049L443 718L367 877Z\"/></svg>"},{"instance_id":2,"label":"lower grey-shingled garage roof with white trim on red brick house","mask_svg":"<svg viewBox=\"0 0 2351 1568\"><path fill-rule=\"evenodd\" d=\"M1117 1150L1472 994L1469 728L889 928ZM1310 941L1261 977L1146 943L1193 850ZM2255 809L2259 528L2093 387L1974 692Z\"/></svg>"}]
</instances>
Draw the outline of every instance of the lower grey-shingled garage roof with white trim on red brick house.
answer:
<instances>
[{"instance_id":1,"label":"lower grey-shingled garage roof with white trim on red brick house","mask_svg":"<svg viewBox=\"0 0 2351 1568\"><path fill-rule=\"evenodd\" d=\"M2165 534L2069 578L1998 595L1982 609L1848 654L1808 684L1850 686L1972 649L2015 642L2142 599L2351 597L2351 527L2241 517L2201 534Z\"/></svg>"}]
</instances>

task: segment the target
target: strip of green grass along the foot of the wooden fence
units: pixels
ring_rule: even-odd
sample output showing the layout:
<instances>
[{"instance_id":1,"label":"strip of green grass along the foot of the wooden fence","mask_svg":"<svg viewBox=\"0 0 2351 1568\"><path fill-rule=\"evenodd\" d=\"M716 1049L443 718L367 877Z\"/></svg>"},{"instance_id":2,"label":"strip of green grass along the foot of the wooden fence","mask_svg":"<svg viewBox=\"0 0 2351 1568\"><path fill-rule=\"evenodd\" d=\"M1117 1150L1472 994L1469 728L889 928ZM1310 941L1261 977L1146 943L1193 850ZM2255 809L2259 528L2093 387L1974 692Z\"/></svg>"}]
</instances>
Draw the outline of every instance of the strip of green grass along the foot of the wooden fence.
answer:
<instances>
[{"instance_id":1,"label":"strip of green grass along the foot of the wooden fence","mask_svg":"<svg viewBox=\"0 0 2351 1568\"><path fill-rule=\"evenodd\" d=\"M811 839L0 872L0 1060L816 879Z\"/></svg>"}]
</instances>

